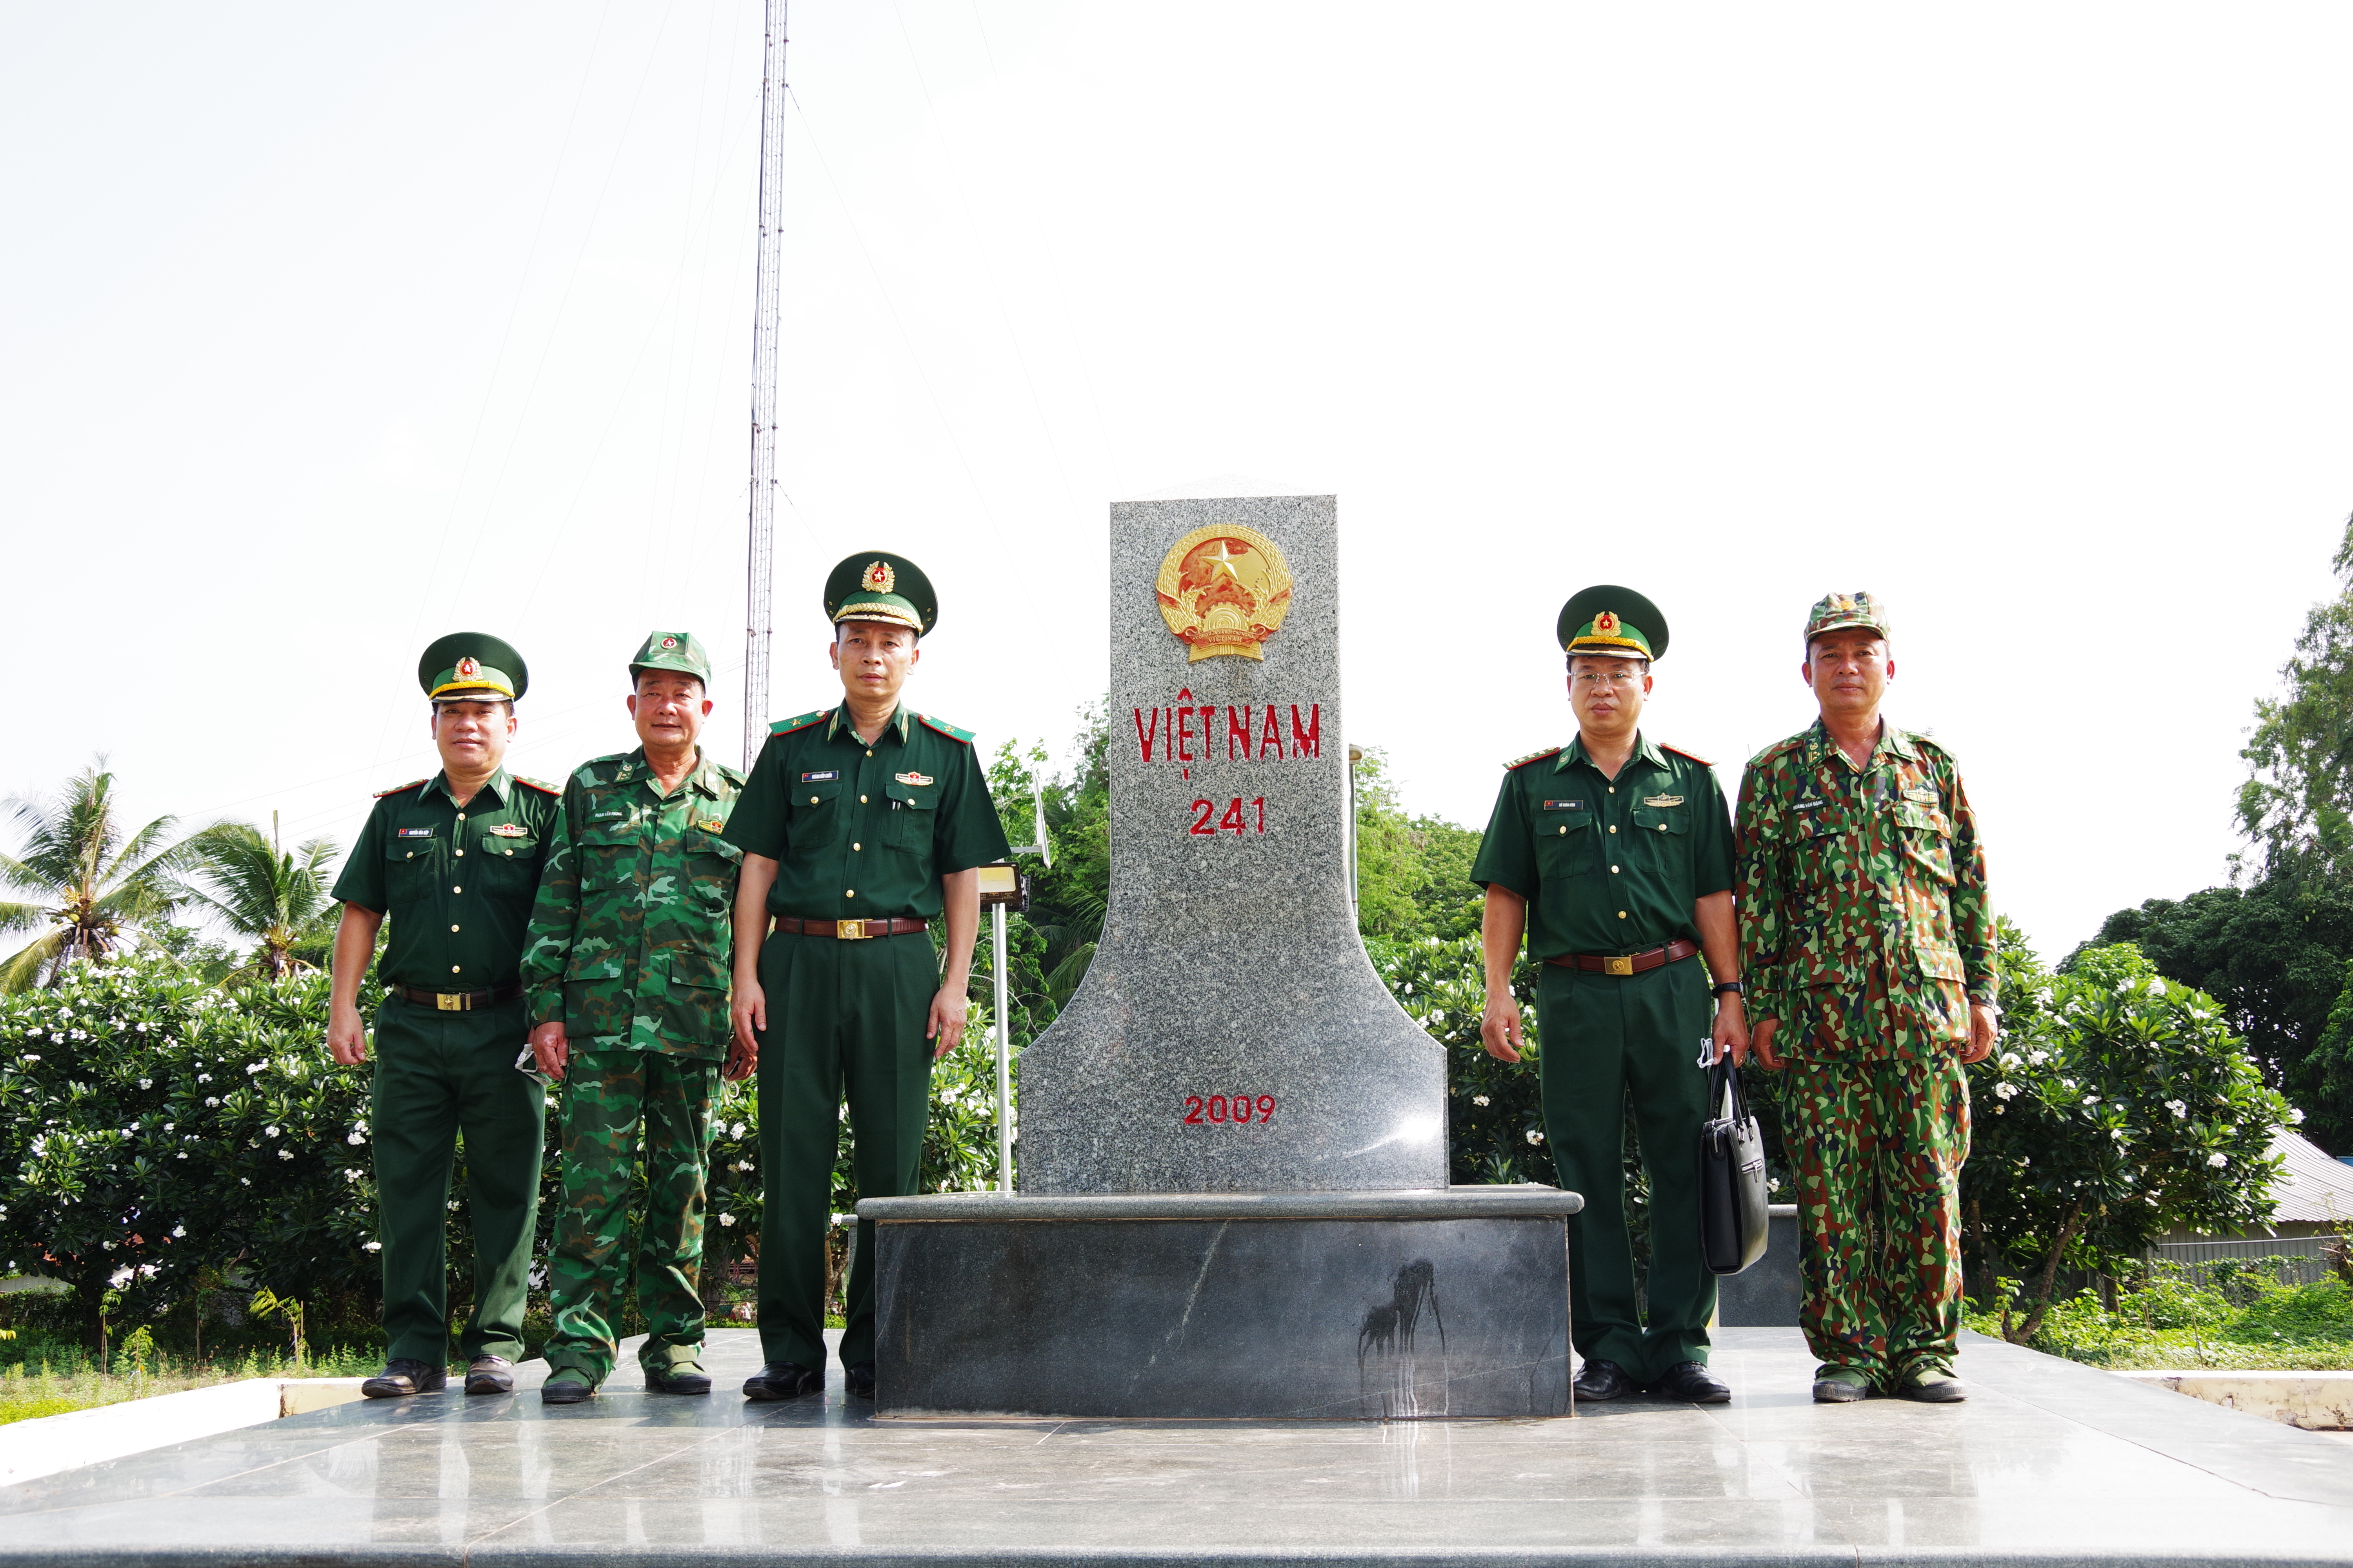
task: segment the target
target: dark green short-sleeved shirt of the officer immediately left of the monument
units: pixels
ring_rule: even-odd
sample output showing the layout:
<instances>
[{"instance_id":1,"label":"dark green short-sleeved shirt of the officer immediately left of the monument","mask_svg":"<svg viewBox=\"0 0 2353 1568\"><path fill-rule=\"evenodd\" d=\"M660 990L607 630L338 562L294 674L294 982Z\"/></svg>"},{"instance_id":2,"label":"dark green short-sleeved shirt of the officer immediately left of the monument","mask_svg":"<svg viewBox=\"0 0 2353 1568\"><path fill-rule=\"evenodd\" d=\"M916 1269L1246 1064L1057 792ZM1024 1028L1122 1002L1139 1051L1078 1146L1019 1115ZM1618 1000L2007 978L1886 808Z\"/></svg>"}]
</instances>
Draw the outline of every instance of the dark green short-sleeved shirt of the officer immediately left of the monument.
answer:
<instances>
[{"instance_id":1,"label":"dark green short-sleeved shirt of the officer immediately left of the monument","mask_svg":"<svg viewBox=\"0 0 2353 1568\"><path fill-rule=\"evenodd\" d=\"M772 724L725 837L798 919L934 919L941 877L1009 853L972 733L906 705L873 745L845 708Z\"/></svg>"}]
</instances>

